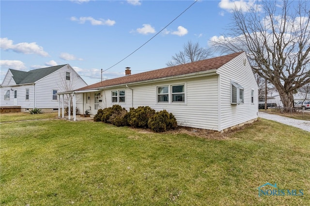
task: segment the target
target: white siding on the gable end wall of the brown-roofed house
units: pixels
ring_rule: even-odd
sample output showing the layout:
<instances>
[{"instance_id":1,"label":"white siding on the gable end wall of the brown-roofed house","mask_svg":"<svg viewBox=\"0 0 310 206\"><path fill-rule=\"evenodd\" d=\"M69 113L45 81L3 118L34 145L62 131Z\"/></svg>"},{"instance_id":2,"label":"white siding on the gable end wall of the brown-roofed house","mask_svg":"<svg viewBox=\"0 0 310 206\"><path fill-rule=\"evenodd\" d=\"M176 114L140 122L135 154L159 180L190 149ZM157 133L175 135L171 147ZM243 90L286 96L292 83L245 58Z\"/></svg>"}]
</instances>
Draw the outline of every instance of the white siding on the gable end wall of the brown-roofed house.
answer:
<instances>
[{"instance_id":1,"label":"white siding on the gable end wall of the brown-roofed house","mask_svg":"<svg viewBox=\"0 0 310 206\"><path fill-rule=\"evenodd\" d=\"M257 93L251 103L251 90L258 90L258 86L249 64L244 66L246 58L243 53L217 69L220 75L220 130L258 118ZM232 80L244 89L244 103L231 104Z\"/></svg>"}]
</instances>

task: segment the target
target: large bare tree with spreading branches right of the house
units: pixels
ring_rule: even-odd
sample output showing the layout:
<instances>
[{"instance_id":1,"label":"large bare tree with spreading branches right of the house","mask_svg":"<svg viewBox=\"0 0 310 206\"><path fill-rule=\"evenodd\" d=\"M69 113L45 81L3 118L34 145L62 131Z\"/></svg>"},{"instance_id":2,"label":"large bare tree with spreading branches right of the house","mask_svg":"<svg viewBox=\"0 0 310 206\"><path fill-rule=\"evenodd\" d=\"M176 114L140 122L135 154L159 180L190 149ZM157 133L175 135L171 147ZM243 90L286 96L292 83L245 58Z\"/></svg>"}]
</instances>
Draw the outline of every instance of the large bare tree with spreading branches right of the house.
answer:
<instances>
[{"instance_id":1,"label":"large bare tree with spreading branches right of the house","mask_svg":"<svg viewBox=\"0 0 310 206\"><path fill-rule=\"evenodd\" d=\"M210 41L222 53L246 51L255 73L279 91L284 107L310 83L309 2L259 1L250 11L233 10L228 33Z\"/></svg>"}]
</instances>

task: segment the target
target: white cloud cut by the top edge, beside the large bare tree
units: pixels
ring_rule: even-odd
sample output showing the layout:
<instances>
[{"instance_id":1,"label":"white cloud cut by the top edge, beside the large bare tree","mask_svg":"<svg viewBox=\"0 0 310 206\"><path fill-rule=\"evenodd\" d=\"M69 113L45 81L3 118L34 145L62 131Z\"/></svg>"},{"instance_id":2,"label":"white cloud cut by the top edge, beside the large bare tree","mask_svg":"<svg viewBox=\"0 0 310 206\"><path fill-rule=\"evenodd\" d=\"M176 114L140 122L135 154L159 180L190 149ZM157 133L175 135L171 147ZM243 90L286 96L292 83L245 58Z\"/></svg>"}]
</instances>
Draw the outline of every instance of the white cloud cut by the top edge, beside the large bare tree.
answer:
<instances>
[{"instance_id":1,"label":"white cloud cut by the top edge, beside the large bare tree","mask_svg":"<svg viewBox=\"0 0 310 206\"><path fill-rule=\"evenodd\" d=\"M243 12L248 11L251 7L255 5L256 0L221 0L218 6L221 9L232 12L233 9L241 9Z\"/></svg>"}]
</instances>

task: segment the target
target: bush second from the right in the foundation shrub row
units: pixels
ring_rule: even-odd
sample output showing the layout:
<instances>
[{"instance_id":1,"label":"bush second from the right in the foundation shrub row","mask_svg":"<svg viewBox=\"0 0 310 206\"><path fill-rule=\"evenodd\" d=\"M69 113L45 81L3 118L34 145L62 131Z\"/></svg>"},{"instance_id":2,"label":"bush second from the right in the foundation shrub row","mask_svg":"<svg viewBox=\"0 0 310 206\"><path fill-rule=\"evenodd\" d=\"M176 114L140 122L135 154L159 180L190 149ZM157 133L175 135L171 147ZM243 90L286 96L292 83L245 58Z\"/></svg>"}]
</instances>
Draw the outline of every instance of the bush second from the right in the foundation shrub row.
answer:
<instances>
[{"instance_id":1,"label":"bush second from the right in the foundation shrub row","mask_svg":"<svg viewBox=\"0 0 310 206\"><path fill-rule=\"evenodd\" d=\"M130 108L128 124L132 127L148 128L149 118L155 115L155 110L149 106L139 106L137 109Z\"/></svg>"}]
</instances>

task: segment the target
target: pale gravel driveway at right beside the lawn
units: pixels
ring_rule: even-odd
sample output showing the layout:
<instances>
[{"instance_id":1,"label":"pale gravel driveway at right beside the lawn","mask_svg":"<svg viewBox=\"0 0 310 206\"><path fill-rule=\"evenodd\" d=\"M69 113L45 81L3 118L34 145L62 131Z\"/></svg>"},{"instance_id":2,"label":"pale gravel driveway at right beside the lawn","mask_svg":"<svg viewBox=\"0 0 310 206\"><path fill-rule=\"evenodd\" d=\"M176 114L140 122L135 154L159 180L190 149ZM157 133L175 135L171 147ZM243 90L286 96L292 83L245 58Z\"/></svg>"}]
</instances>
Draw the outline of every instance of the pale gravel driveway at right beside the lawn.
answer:
<instances>
[{"instance_id":1,"label":"pale gravel driveway at right beside the lawn","mask_svg":"<svg viewBox=\"0 0 310 206\"><path fill-rule=\"evenodd\" d=\"M282 124L290 125L293 127L300 128L302 130L310 132L310 121L308 120L300 120L300 119L294 119L294 118L287 118L282 117L279 115L271 115L264 112L259 112L258 117L264 118L264 119L270 119L277 122L280 122Z\"/></svg>"}]
</instances>

